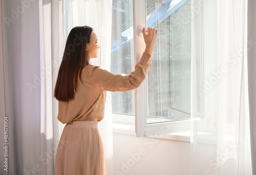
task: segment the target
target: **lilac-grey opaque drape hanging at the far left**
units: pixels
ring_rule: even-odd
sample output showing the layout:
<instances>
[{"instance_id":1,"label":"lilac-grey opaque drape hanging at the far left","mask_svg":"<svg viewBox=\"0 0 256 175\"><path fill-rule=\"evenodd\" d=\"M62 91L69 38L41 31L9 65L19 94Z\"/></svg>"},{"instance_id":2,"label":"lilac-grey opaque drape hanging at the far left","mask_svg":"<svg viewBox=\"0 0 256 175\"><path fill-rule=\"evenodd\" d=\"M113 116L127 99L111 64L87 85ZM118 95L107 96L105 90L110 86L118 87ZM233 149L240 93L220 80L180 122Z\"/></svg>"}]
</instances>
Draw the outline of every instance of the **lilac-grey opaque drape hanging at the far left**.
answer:
<instances>
[{"instance_id":1,"label":"lilac-grey opaque drape hanging at the far left","mask_svg":"<svg viewBox=\"0 0 256 175\"><path fill-rule=\"evenodd\" d=\"M40 160L40 62L38 2L2 1L8 171L34 171ZM30 30L28 30L30 29ZM1 139L3 145L4 140Z\"/></svg>"}]
</instances>

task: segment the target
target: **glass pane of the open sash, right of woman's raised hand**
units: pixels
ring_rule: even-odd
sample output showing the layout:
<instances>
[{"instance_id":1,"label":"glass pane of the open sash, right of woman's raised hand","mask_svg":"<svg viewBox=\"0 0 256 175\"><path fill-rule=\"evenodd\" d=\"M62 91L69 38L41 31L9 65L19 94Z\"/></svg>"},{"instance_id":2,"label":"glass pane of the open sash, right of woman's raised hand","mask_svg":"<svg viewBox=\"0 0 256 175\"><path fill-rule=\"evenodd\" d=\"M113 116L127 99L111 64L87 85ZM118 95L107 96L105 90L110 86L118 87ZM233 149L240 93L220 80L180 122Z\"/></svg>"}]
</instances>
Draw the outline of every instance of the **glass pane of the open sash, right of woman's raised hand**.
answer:
<instances>
[{"instance_id":1,"label":"glass pane of the open sash, right of woman's raised hand","mask_svg":"<svg viewBox=\"0 0 256 175\"><path fill-rule=\"evenodd\" d=\"M159 30L147 76L147 123L190 118L190 0L146 0L147 27Z\"/></svg>"}]
</instances>

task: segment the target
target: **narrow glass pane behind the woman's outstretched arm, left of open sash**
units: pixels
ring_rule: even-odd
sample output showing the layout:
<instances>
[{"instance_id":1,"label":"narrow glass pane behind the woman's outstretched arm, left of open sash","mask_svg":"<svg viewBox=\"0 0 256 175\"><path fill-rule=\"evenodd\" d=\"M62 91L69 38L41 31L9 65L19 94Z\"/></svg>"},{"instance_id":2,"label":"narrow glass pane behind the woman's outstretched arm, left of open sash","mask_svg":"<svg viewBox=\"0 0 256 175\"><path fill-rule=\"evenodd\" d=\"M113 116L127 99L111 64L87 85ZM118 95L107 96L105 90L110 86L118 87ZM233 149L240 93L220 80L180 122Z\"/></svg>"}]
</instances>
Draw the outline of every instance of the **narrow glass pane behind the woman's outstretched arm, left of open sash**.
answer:
<instances>
[{"instance_id":1,"label":"narrow glass pane behind the woman's outstretched arm, left of open sash","mask_svg":"<svg viewBox=\"0 0 256 175\"><path fill-rule=\"evenodd\" d=\"M134 70L133 0L113 0L111 72L129 74ZM134 90L112 92L112 112L135 115Z\"/></svg>"}]
</instances>

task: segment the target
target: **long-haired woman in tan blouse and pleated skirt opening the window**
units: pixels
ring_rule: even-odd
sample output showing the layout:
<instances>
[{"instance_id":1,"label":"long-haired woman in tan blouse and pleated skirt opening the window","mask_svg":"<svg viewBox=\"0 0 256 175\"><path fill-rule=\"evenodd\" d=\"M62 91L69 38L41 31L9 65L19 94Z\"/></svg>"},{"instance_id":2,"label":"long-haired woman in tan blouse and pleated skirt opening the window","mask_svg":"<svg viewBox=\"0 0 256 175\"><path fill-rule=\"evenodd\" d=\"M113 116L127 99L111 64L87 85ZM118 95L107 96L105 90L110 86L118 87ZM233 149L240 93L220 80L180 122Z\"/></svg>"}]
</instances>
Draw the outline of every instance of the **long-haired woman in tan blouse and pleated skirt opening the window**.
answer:
<instances>
[{"instance_id":1,"label":"long-haired woman in tan blouse and pleated skirt opening the window","mask_svg":"<svg viewBox=\"0 0 256 175\"><path fill-rule=\"evenodd\" d=\"M57 148L55 174L106 174L98 121L104 115L106 91L135 89L150 69L158 31L147 28L146 34L143 28L142 33L145 52L135 70L124 75L89 64L100 48L92 28L70 31L54 90L59 101L58 120L67 123Z\"/></svg>"}]
</instances>

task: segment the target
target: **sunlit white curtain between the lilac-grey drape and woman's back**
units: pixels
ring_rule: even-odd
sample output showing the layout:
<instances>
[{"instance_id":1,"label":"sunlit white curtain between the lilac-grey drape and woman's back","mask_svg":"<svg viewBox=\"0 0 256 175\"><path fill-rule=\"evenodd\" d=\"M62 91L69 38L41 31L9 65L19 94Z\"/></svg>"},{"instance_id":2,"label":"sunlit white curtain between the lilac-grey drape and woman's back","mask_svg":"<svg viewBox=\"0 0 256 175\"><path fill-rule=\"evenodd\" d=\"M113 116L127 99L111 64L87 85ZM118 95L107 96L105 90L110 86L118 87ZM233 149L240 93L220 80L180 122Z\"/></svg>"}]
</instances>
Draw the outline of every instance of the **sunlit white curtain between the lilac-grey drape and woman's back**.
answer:
<instances>
[{"instance_id":1,"label":"sunlit white curtain between the lilac-grey drape and woman's back","mask_svg":"<svg viewBox=\"0 0 256 175\"><path fill-rule=\"evenodd\" d=\"M58 121L53 97L65 47L64 2L39 1L41 174L54 174L56 150L64 124ZM51 155L46 159L45 154Z\"/></svg>"}]
</instances>

